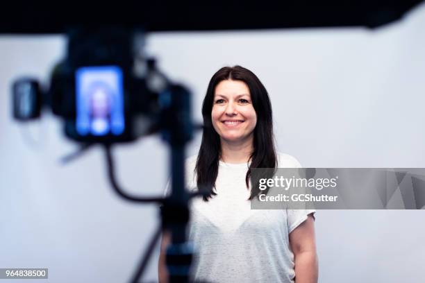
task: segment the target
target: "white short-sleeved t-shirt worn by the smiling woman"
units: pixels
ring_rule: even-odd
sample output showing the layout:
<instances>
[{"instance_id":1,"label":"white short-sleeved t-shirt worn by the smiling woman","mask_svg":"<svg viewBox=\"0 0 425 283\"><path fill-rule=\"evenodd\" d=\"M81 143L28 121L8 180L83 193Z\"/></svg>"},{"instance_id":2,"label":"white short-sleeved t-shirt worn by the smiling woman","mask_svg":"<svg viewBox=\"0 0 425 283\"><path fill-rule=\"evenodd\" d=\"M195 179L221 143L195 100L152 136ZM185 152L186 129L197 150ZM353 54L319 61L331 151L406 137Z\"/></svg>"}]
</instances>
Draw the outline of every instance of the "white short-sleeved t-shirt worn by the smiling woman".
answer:
<instances>
[{"instance_id":1,"label":"white short-sleeved t-shirt worn by the smiling woman","mask_svg":"<svg viewBox=\"0 0 425 283\"><path fill-rule=\"evenodd\" d=\"M186 160L186 185L197 190L197 156ZM278 154L279 168L299 168L292 156ZM219 162L217 196L194 198L188 235L197 255L195 281L294 282L294 255L289 234L313 209L251 209L245 183L248 164Z\"/></svg>"}]
</instances>

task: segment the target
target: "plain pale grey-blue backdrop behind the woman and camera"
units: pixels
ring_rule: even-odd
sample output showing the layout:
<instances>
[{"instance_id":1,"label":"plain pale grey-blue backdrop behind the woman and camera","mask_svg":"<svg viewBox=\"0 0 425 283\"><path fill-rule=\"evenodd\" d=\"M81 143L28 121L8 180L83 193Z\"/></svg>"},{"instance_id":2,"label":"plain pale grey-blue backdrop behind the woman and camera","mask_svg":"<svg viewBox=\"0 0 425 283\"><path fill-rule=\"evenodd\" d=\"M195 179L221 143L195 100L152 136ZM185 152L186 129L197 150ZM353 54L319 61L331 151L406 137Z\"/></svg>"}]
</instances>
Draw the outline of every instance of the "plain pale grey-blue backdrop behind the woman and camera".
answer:
<instances>
[{"instance_id":1,"label":"plain pale grey-blue backdrop behind the woman and camera","mask_svg":"<svg viewBox=\"0 0 425 283\"><path fill-rule=\"evenodd\" d=\"M254 71L272 99L278 150L303 166L425 167L424 28L422 5L376 31L155 33L147 51L192 89L199 120L219 67ZM61 166L59 157L76 146L50 114L31 125L10 117L12 79L46 80L64 46L61 36L0 37L0 267L49 268L49 282L124 282L158 225L156 207L113 194L98 148ZM160 139L140 139L116 155L130 191L163 191ZM423 223L424 211L318 212L319 281L424 282ZM148 280L156 280L156 257Z\"/></svg>"}]
</instances>

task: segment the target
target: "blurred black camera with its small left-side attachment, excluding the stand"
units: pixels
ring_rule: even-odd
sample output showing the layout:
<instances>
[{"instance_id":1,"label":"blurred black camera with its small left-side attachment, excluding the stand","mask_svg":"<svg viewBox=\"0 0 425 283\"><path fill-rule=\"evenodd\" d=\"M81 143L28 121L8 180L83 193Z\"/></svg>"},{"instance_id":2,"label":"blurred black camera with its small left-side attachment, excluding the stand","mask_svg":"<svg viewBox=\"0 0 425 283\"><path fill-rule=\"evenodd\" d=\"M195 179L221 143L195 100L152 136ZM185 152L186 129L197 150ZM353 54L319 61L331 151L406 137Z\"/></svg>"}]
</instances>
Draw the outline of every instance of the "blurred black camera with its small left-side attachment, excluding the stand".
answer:
<instances>
[{"instance_id":1,"label":"blurred black camera with its small left-side attachment, excluding the stand","mask_svg":"<svg viewBox=\"0 0 425 283\"><path fill-rule=\"evenodd\" d=\"M43 107L64 121L74 141L113 144L134 141L160 127L158 99L167 80L153 60L140 56L137 33L124 28L76 28L68 33L65 58L42 91L30 78L13 87L13 116L38 119ZM158 80L156 87L149 80Z\"/></svg>"}]
</instances>

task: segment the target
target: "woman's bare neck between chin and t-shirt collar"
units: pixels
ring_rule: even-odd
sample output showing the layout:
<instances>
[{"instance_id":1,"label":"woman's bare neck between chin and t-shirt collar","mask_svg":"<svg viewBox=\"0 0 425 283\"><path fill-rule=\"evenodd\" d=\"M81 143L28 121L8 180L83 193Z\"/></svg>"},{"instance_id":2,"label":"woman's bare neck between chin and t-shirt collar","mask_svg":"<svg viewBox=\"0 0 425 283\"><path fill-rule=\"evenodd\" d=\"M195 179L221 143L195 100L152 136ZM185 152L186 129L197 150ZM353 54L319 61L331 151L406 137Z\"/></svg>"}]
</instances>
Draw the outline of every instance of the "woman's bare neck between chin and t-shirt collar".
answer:
<instances>
[{"instance_id":1,"label":"woman's bare neck between chin and t-shirt collar","mask_svg":"<svg viewBox=\"0 0 425 283\"><path fill-rule=\"evenodd\" d=\"M253 152L253 136L243 141L226 141L221 139L221 160L227 163L246 163Z\"/></svg>"}]
</instances>

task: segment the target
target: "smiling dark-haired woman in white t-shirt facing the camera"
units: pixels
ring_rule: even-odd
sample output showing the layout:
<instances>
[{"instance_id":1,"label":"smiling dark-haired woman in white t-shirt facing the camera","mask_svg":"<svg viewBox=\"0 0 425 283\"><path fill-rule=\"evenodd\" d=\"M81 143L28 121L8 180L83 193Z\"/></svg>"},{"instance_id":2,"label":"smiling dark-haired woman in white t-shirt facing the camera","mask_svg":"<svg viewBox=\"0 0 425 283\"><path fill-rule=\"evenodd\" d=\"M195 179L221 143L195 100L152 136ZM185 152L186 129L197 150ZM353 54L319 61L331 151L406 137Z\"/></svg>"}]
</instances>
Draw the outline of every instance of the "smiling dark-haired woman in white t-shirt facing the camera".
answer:
<instances>
[{"instance_id":1,"label":"smiling dark-haired woman in white t-shirt facing the camera","mask_svg":"<svg viewBox=\"0 0 425 283\"><path fill-rule=\"evenodd\" d=\"M252 168L301 167L276 154L272 106L267 90L248 69L219 69L202 106L204 130L199 154L186 164L189 189L207 187L210 196L192 200L189 238L197 249L195 281L317 282L314 210L251 209ZM165 282L164 234L159 264Z\"/></svg>"}]
</instances>

